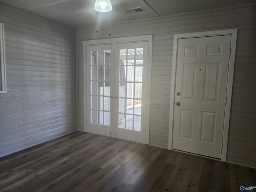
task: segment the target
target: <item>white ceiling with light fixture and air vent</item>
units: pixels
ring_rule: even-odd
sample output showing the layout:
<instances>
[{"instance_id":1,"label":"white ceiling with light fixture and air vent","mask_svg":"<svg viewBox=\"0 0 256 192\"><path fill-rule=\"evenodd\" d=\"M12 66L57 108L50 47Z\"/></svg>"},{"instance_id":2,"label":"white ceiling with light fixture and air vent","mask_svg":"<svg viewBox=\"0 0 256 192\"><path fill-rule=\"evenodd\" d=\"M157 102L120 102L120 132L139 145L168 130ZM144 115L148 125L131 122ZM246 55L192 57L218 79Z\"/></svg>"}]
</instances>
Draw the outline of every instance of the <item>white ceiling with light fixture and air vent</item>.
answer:
<instances>
[{"instance_id":1,"label":"white ceiling with light fixture and air vent","mask_svg":"<svg viewBox=\"0 0 256 192\"><path fill-rule=\"evenodd\" d=\"M95 26L95 0L2 0L72 27ZM238 4L254 3L255 0L111 0L119 10L112 10L111 23L157 18L172 14L194 12ZM145 12L125 13L124 10L142 7ZM98 14L98 25L109 22L109 13Z\"/></svg>"}]
</instances>

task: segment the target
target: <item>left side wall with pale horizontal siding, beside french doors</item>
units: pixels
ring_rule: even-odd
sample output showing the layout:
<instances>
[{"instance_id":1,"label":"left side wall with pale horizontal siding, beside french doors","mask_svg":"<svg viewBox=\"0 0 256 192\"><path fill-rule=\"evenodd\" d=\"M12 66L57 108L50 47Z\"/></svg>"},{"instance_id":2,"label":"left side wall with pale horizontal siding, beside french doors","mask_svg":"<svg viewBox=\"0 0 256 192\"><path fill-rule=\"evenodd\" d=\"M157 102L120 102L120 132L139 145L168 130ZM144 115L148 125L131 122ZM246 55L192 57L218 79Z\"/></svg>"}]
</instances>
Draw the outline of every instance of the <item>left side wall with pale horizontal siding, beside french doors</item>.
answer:
<instances>
[{"instance_id":1,"label":"left side wall with pale horizontal siding, beside french doors","mask_svg":"<svg viewBox=\"0 0 256 192\"><path fill-rule=\"evenodd\" d=\"M76 130L75 30L0 3L0 157Z\"/></svg>"}]
</instances>

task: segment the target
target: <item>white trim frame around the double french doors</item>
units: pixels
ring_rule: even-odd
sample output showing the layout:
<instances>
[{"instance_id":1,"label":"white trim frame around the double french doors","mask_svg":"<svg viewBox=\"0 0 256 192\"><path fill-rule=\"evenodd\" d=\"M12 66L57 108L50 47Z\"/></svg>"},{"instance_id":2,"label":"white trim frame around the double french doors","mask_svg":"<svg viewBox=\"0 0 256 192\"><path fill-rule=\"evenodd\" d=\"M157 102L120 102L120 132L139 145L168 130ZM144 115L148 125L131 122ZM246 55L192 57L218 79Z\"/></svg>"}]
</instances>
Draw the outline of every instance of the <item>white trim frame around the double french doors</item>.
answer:
<instances>
[{"instance_id":1,"label":"white trim frame around the double french doors","mask_svg":"<svg viewBox=\"0 0 256 192\"><path fill-rule=\"evenodd\" d=\"M147 90L146 100L146 140L145 144L149 144L149 123L150 123L150 90L151 90L151 68L152 68L152 39L153 35L142 35L142 36L131 36L131 37L120 37L120 38L108 38L98 40L87 40L83 41L83 55L84 55L84 132L87 131L87 62L86 62L86 46L90 45L104 45L104 44L115 44L115 43L131 43L131 42L148 42L148 74L147 74Z\"/></svg>"}]
</instances>

